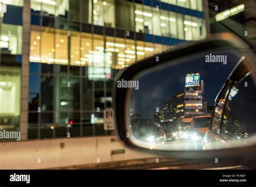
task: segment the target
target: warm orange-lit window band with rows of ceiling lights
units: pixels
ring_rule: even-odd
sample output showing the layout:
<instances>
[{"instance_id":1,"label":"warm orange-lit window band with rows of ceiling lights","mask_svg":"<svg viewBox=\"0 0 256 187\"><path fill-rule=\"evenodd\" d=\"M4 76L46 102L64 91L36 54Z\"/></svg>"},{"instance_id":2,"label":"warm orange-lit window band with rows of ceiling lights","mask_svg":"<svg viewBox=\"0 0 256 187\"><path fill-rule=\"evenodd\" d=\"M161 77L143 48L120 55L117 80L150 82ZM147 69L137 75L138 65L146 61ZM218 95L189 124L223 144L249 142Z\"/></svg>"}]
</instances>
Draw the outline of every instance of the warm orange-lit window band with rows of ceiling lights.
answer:
<instances>
[{"instance_id":1,"label":"warm orange-lit window band with rows of ceiling lights","mask_svg":"<svg viewBox=\"0 0 256 187\"><path fill-rule=\"evenodd\" d=\"M135 42L131 39L72 31L70 64L89 66L91 74L97 71L97 76L110 78L111 68L123 69L136 60L142 60L167 49L169 46L150 42ZM41 27L32 26L30 62L68 64L68 53L68 36L65 30L46 27L42 27L41 30Z\"/></svg>"}]
</instances>

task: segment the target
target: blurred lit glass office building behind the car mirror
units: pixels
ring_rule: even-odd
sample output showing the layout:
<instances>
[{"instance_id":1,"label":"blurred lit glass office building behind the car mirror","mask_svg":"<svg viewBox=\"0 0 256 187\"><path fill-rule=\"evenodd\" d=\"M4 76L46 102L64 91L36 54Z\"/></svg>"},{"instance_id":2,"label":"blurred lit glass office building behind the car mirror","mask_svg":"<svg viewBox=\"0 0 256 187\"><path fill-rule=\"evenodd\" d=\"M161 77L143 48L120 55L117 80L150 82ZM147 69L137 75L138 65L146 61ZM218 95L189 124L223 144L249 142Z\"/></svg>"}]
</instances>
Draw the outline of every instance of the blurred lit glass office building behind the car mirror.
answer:
<instances>
[{"instance_id":1,"label":"blurred lit glass office building behind the car mirror","mask_svg":"<svg viewBox=\"0 0 256 187\"><path fill-rule=\"evenodd\" d=\"M22 140L110 134L118 70L209 33L201 0L0 3L0 127Z\"/></svg>"}]
</instances>

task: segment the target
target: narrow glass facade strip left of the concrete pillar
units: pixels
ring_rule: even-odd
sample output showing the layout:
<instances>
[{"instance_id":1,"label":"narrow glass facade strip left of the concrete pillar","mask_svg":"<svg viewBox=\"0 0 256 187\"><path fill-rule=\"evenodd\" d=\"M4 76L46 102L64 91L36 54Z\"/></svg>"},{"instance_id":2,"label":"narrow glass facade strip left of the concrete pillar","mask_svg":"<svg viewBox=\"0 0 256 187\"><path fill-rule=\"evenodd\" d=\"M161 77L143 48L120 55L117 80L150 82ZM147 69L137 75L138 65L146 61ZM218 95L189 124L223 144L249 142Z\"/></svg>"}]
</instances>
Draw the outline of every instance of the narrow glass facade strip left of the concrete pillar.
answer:
<instances>
[{"instance_id":1,"label":"narrow glass facade strip left of the concrete pillar","mask_svg":"<svg viewBox=\"0 0 256 187\"><path fill-rule=\"evenodd\" d=\"M21 116L22 25L20 18L8 21L23 1L0 0L0 129L19 130ZM19 15L18 15L19 16Z\"/></svg>"}]
</instances>

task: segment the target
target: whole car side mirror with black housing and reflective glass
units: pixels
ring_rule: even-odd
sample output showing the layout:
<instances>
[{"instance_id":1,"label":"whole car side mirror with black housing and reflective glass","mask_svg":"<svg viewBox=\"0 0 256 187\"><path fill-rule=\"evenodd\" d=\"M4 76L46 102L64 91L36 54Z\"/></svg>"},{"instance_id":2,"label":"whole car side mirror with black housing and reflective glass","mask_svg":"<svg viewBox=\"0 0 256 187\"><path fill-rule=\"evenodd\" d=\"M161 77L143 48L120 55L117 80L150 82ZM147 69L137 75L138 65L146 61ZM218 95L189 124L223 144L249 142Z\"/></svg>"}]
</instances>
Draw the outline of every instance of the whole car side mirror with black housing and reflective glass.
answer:
<instances>
[{"instance_id":1,"label":"whole car side mirror with black housing and reflective glass","mask_svg":"<svg viewBox=\"0 0 256 187\"><path fill-rule=\"evenodd\" d=\"M179 158L254 154L256 128L239 106L250 105L252 114L256 94L250 95L252 103L234 99L244 98L246 89L237 83L245 78L250 92L256 90L254 57L250 44L220 33L132 64L114 84L120 140L133 149ZM193 130L192 120L200 124Z\"/></svg>"}]
</instances>

